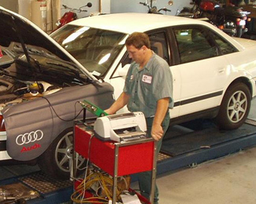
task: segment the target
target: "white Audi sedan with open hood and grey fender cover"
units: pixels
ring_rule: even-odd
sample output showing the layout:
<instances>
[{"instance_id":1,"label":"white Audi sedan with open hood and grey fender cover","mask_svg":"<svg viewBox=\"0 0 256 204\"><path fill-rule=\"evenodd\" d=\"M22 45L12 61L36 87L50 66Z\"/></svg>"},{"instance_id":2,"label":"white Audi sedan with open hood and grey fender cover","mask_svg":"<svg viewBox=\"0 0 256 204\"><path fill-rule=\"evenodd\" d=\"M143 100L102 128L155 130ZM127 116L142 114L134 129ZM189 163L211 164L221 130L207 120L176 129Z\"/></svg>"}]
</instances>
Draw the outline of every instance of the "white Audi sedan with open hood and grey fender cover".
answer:
<instances>
[{"instance_id":1,"label":"white Audi sedan with open hood and grey fender cover","mask_svg":"<svg viewBox=\"0 0 256 204\"><path fill-rule=\"evenodd\" d=\"M1 8L0 26L0 158L37 159L55 177L69 173L76 102L104 109L121 94L131 64L124 42L134 31L149 35L173 73L170 125L215 118L220 129L237 129L256 96L256 42L204 21L119 13L75 20L48 36Z\"/></svg>"}]
</instances>

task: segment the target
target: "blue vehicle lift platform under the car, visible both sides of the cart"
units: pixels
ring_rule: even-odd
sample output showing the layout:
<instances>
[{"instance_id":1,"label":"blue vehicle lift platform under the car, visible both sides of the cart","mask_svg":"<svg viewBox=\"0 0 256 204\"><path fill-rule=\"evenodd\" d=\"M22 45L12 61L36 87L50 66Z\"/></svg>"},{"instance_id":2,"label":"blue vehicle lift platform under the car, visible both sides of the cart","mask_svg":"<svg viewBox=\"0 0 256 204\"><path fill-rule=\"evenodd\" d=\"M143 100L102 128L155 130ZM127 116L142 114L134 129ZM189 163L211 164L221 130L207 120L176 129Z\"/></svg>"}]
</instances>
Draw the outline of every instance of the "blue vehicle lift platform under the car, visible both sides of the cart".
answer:
<instances>
[{"instance_id":1,"label":"blue vehicle lift platform under the car, visible both sides of the cart","mask_svg":"<svg viewBox=\"0 0 256 204\"><path fill-rule=\"evenodd\" d=\"M185 166L195 166L214 158L253 147L256 144L255 120L247 119L239 129L229 131L220 131L213 126L213 123L209 125L207 121L205 124L200 121L199 124L205 127L202 129L191 129L189 126L169 128L163 140L161 153L158 155L158 174ZM192 124L192 126L195 127L196 125ZM135 179L134 177L133 180ZM65 180L58 183L38 171L0 180L0 188L17 182L39 192L38 198L27 200L27 203L32 204L69 202L73 191L72 181Z\"/></svg>"}]
</instances>

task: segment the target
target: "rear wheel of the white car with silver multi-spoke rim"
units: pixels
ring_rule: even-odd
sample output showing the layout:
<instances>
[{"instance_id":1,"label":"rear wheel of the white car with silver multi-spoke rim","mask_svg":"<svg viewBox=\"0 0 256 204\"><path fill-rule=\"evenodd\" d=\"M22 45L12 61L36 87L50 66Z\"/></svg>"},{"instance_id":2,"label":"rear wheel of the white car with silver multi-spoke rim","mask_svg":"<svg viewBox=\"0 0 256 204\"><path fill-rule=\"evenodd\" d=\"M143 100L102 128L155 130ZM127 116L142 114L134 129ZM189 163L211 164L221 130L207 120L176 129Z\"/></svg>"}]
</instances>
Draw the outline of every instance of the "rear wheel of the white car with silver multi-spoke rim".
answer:
<instances>
[{"instance_id":1,"label":"rear wheel of the white car with silver multi-spoke rim","mask_svg":"<svg viewBox=\"0 0 256 204\"><path fill-rule=\"evenodd\" d=\"M239 82L228 88L217 115L220 129L237 129L243 125L250 111L250 90Z\"/></svg>"}]
</instances>

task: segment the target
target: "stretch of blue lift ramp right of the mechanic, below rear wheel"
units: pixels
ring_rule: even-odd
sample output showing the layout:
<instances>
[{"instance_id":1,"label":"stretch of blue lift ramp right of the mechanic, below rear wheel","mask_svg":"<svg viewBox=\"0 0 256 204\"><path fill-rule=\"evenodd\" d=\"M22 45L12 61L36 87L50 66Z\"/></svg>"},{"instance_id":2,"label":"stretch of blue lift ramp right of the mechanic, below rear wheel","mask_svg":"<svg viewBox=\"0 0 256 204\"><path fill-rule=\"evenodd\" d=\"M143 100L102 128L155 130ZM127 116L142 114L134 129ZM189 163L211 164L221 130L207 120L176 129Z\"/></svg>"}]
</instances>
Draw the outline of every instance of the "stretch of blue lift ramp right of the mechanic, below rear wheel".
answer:
<instances>
[{"instance_id":1,"label":"stretch of blue lift ramp right of the mechanic, below rear wheel","mask_svg":"<svg viewBox=\"0 0 256 204\"><path fill-rule=\"evenodd\" d=\"M203 126L202 121L199 122ZM180 128L180 135L177 136L172 136L177 131L169 129L161 148L161 155L165 155L165 159L158 161L158 174L196 166L256 144L256 121L253 119L247 119L243 126L231 131L219 131L208 123L205 126L205 129L196 130L185 127L183 133Z\"/></svg>"}]
</instances>

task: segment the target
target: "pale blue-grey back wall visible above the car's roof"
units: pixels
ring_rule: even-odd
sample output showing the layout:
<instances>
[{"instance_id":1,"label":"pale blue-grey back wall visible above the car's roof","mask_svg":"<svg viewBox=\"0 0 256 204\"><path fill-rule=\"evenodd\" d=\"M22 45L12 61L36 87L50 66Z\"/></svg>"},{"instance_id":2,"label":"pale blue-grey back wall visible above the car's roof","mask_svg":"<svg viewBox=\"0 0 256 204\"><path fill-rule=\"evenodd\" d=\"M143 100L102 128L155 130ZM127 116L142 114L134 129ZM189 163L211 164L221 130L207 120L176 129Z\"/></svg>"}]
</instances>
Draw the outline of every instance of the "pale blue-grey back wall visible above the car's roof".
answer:
<instances>
[{"instance_id":1,"label":"pale blue-grey back wall visible above the car's roof","mask_svg":"<svg viewBox=\"0 0 256 204\"><path fill-rule=\"evenodd\" d=\"M147 0L150 2L150 0ZM146 0L111 0L111 13L147 13L147 6L139 4L139 2L146 2ZM153 5L156 5L158 9L166 7L172 10L168 15L175 15L177 9L182 9L184 6L192 7L189 3L191 0L173 0L173 5L168 5L169 0L156 0Z\"/></svg>"}]
</instances>

